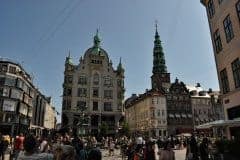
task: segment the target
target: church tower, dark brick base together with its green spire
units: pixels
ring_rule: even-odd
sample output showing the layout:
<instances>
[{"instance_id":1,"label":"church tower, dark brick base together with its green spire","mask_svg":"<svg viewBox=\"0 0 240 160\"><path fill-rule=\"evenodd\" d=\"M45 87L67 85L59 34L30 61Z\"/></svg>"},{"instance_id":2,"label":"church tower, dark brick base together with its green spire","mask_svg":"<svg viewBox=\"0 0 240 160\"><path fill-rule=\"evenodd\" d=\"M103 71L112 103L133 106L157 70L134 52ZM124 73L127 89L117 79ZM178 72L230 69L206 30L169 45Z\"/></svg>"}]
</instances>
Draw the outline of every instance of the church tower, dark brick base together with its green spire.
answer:
<instances>
[{"instance_id":1,"label":"church tower, dark brick base together with its green spire","mask_svg":"<svg viewBox=\"0 0 240 160\"><path fill-rule=\"evenodd\" d=\"M167 72L164 52L163 52L160 36L158 34L157 24L156 24L155 40L154 40L154 48L153 48L152 73L153 73L153 75L151 76L152 89L164 90L166 92L170 86L170 73Z\"/></svg>"}]
</instances>

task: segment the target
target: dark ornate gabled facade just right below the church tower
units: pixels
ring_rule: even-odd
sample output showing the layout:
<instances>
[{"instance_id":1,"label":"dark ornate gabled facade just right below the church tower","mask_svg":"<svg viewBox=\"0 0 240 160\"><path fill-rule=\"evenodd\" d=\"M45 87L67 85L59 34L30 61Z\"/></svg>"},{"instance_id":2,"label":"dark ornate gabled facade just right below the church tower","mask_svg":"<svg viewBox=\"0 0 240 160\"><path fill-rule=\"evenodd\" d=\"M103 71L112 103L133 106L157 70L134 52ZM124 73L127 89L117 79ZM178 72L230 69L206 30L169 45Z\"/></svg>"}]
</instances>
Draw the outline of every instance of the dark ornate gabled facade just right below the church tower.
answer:
<instances>
[{"instance_id":1,"label":"dark ornate gabled facade just right below the church tower","mask_svg":"<svg viewBox=\"0 0 240 160\"><path fill-rule=\"evenodd\" d=\"M171 135L193 131L190 93L183 82L176 78L167 93L167 123Z\"/></svg>"}]
</instances>

